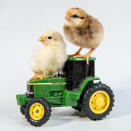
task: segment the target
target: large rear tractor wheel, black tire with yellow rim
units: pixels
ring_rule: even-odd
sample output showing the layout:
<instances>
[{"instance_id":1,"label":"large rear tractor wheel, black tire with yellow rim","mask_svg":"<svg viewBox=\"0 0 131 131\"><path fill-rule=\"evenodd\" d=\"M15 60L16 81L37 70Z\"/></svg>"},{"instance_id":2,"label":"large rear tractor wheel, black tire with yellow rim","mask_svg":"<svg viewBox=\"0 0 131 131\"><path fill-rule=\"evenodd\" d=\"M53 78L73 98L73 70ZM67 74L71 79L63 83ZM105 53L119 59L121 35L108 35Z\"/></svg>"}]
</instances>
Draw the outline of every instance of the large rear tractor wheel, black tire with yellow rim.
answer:
<instances>
[{"instance_id":1,"label":"large rear tractor wheel, black tire with yellow rim","mask_svg":"<svg viewBox=\"0 0 131 131\"><path fill-rule=\"evenodd\" d=\"M96 83L84 92L81 110L90 119L100 120L110 113L113 106L113 91L103 83Z\"/></svg>"}]
</instances>

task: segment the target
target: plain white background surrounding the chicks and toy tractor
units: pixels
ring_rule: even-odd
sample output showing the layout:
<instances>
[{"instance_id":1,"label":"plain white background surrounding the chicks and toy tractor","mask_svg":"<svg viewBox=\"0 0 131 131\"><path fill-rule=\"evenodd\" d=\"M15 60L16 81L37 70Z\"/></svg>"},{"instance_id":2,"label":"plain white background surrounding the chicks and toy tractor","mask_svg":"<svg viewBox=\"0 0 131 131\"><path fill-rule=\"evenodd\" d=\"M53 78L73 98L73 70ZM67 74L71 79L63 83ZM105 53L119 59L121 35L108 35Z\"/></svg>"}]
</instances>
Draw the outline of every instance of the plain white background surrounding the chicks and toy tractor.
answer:
<instances>
[{"instance_id":1,"label":"plain white background surrounding the chicks and toy tractor","mask_svg":"<svg viewBox=\"0 0 131 131\"><path fill-rule=\"evenodd\" d=\"M30 126L19 113L16 94L25 93L33 75L28 66L44 30L62 32L67 8L80 7L98 18L104 40L92 54L96 76L115 93L115 107L106 119L91 121L69 108L55 108L48 123ZM131 1L130 0L0 0L0 130L131 130ZM68 41L67 53L78 49ZM83 50L85 53L87 50Z\"/></svg>"}]
</instances>

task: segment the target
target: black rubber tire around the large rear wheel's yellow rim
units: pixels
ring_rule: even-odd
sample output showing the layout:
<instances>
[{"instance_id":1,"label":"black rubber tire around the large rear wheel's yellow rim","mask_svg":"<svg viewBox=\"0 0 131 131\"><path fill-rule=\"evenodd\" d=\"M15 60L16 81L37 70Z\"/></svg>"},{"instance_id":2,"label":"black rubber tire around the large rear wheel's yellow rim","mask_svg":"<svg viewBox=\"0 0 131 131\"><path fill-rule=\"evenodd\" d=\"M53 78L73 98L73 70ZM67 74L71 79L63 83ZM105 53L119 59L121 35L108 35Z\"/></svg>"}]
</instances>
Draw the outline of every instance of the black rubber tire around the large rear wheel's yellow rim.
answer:
<instances>
[{"instance_id":1,"label":"black rubber tire around the large rear wheel's yellow rim","mask_svg":"<svg viewBox=\"0 0 131 131\"><path fill-rule=\"evenodd\" d=\"M89 106L89 100L92 94L99 90L103 90L109 95L110 105L104 113L96 114L91 111ZM113 106L114 106L114 94L109 86L103 83L95 83L89 89L85 90L82 98L81 110L85 114L85 116L90 118L91 120L101 120L102 118L106 117L106 115L108 115L110 111L112 111Z\"/></svg>"}]
</instances>

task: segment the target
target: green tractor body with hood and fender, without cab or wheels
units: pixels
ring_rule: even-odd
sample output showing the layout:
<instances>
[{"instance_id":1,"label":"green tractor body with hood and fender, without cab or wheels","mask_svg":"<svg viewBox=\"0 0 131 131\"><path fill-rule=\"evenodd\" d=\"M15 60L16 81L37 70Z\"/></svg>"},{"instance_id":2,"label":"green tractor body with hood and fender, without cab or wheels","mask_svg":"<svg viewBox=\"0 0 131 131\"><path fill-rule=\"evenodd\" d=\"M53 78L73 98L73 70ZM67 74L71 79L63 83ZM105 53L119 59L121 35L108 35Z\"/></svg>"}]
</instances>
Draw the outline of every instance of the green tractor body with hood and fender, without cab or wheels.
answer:
<instances>
[{"instance_id":1,"label":"green tractor body with hood and fender, without cab or wheels","mask_svg":"<svg viewBox=\"0 0 131 131\"><path fill-rule=\"evenodd\" d=\"M97 77L86 78L79 90L69 91L66 89L67 79L60 78L45 78L43 80L29 81L27 83L27 93L17 95L17 104L25 106L32 98L43 98L47 100L51 107L59 106L79 106L80 96L86 86L99 80ZM31 92L32 91L32 92Z\"/></svg>"}]
</instances>

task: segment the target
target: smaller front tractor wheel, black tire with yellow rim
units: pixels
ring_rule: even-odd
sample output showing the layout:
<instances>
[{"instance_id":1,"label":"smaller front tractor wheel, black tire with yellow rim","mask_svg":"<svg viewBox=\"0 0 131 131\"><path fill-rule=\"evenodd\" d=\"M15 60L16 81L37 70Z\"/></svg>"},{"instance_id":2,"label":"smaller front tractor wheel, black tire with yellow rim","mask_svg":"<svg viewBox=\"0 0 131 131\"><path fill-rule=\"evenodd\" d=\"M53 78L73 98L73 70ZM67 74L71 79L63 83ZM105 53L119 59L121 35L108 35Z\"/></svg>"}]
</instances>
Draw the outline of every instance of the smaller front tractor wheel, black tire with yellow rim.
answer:
<instances>
[{"instance_id":1,"label":"smaller front tractor wheel, black tire with yellow rim","mask_svg":"<svg viewBox=\"0 0 131 131\"><path fill-rule=\"evenodd\" d=\"M33 126L41 126L45 124L51 115L51 108L44 99L32 99L25 110L25 118Z\"/></svg>"}]
</instances>

